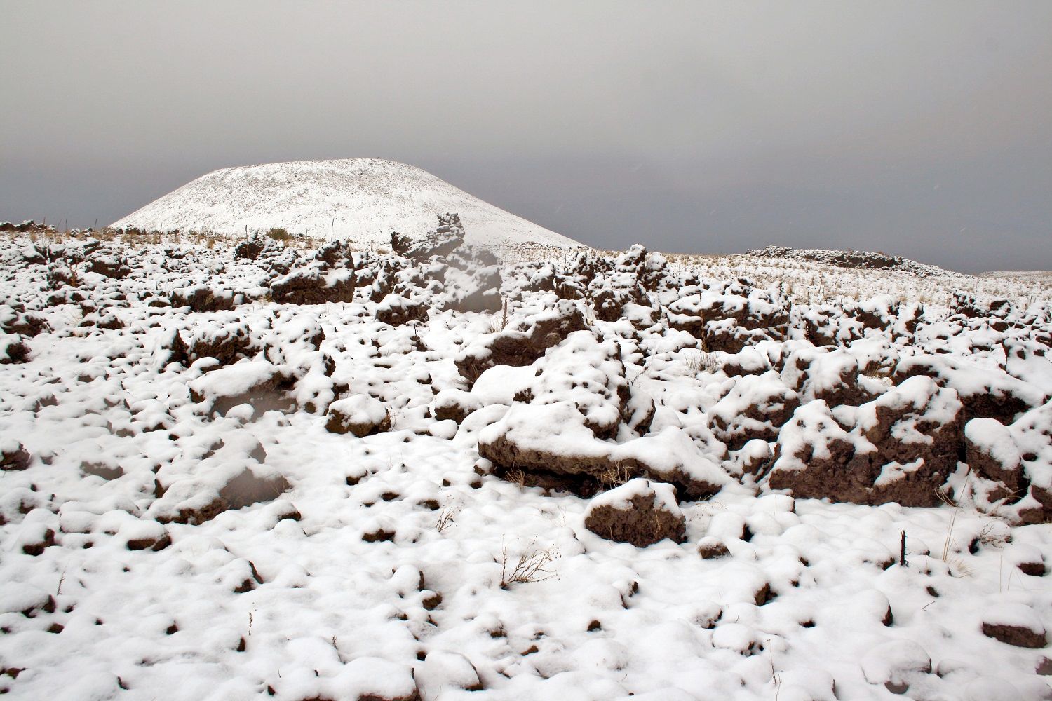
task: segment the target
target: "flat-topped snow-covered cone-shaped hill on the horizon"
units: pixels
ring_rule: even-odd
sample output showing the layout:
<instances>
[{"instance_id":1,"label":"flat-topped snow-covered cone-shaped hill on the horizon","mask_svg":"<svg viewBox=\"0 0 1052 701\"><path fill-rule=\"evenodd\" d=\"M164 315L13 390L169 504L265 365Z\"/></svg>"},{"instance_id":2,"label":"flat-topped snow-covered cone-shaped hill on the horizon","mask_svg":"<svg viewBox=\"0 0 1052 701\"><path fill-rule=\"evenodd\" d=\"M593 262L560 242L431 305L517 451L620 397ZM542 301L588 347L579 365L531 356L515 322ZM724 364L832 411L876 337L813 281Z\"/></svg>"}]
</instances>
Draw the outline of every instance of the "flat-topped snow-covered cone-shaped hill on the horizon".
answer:
<instances>
[{"instance_id":1,"label":"flat-topped snow-covered cone-shaped hill on the horizon","mask_svg":"<svg viewBox=\"0 0 1052 701\"><path fill-rule=\"evenodd\" d=\"M294 161L222 168L112 225L143 230L243 234L282 227L358 246L387 245L391 231L418 236L437 214L458 212L476 245L581 246L460 190L425 170L383 159Z\"/></svg>"}]
</instances>

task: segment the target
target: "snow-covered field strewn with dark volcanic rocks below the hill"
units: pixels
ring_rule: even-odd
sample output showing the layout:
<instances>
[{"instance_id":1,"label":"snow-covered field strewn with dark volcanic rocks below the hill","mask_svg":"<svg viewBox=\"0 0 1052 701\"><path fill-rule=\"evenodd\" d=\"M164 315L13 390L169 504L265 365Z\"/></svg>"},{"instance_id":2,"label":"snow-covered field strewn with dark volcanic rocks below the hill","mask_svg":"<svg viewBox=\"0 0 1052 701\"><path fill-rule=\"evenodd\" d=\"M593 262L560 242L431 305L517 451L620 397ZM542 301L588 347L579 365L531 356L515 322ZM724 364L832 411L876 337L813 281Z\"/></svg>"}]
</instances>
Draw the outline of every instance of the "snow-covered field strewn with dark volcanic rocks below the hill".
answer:
<instances>
[{"instance_id":1,"label":"snow-covered field strewn with dark volcanic rocks below the hill","mask_svg":"<svg viewBox=\"0 0 1052 701\"><path fill-rule=\"evenodd\" d=\"M0 689L1052 698L1047 288L535 254L9 240Z\"/></svg>"}]
</instances>

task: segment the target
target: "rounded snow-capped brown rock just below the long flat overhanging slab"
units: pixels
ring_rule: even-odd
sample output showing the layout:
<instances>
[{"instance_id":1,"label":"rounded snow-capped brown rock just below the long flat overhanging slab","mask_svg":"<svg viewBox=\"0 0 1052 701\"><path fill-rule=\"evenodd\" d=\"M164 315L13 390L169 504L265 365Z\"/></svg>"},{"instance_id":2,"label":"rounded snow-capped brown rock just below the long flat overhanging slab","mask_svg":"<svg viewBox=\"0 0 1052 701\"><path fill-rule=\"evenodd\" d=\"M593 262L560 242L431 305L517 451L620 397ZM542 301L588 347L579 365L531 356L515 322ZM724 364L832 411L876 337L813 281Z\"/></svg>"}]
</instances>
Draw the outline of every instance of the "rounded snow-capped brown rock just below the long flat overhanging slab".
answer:
<instances>
[{"instance_id":1,"label":"rounded snow-capped brown rock just below the long flat overhanging slab","mask_svg":"<svg viewBox=\"0 0 1052 701\"><path fill-rule=\"evenodd\" d=\"M675 502L671 484L631 479L593 498L585 511L585 528L618 542L636 548L670 539L686 540L687 521Z\"/></svg>"}]
</instances>

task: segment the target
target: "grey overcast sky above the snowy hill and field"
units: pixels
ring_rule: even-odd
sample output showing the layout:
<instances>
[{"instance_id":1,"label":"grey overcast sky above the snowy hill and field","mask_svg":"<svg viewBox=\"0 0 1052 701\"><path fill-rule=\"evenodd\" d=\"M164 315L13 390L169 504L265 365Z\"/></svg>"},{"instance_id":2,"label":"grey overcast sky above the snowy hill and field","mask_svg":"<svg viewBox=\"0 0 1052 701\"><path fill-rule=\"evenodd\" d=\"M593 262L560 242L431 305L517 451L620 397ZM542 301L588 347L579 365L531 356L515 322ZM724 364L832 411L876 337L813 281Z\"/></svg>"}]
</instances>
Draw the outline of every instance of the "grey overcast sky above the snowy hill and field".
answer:
<instances>
[{"instance_id":1,"label":"grey overcast sky above the snowy hill and field","mask_svg":"<svg viewBox=\"0 0 1052 701\"><path fill-rule=\"evenodd\" d=\"M1052 2L0 2L0 220L381 157L583 243L1052 268Z\"/></svg>"}]
</instances>

